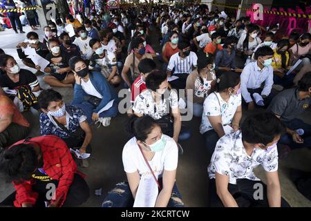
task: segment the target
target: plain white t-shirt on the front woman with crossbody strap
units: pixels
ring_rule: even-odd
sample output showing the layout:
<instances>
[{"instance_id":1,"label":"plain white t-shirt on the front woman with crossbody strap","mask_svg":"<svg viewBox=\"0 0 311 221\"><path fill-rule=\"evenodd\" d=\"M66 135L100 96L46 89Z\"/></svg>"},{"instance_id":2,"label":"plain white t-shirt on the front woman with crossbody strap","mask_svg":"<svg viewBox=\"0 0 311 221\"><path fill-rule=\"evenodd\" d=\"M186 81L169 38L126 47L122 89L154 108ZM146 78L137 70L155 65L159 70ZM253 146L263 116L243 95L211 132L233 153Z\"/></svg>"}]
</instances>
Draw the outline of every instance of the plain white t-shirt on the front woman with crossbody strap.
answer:
<instances>
[{"instance_id":1,"label":"plain white t-shirt on the front woman with crossbody strap","mask_svg":"<svg viewBox=\"0 0 311 221\"><path fill-rule=\"evenodd\" d=\"M149 161L151 169L157 178L162 177L164 170L176 170L178 165L178 147L176 142L167 135L163 136L166 140L164 149L156 152L152 160ZM122 152L122 161L126 173L138 171L140 176L148 175L152 177L152 173L140 152L136 137L133 137L125 144Z\"/></svg>"}]
</instances>

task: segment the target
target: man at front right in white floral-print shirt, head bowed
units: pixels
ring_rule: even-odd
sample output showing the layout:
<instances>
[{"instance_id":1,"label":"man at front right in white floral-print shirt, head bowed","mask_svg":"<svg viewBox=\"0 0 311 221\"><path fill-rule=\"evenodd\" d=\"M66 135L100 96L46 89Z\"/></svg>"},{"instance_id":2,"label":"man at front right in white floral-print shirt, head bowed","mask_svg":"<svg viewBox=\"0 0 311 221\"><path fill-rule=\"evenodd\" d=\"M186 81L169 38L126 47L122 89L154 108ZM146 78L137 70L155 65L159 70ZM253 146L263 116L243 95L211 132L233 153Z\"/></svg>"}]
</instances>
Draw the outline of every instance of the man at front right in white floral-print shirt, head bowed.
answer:
<instances>
[{"instance_id":1,"label":"man at front right in white floral-print shirt, head bowed","mask_svg":"<svg viewBox=\"0 0 311 221\"><path fill-rule=\"evenodd\" d=\"M241 131L220 138L208 167L211 207L288 207L281 198L277 142L285 126L272 113L245 119ZM267 184L254 174L263 166Z\"/></svg>"}]
</instances>

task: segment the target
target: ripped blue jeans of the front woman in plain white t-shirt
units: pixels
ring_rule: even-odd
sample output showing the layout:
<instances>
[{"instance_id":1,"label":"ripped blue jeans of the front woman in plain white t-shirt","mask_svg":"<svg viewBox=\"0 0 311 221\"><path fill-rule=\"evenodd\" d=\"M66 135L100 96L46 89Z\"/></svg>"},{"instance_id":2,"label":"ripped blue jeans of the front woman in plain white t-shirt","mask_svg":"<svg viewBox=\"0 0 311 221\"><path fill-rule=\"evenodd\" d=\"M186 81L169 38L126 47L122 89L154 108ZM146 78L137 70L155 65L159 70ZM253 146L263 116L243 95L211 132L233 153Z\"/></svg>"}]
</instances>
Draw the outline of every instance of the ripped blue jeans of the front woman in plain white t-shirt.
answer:
<instances>
[{"instance_id":1,"label":"ripped blue jeans of the front woman in plain white t-shirt","mask_svg":"<svg viewBox=\"0 0 311 221\"><path fill-rule=\"evenodd\" d=\"M104 202L102 203L102 207L133 207L134 199L129 188L128 182L120 182L115 185L115 188L111 190ZM167 207L183 207L184 204L182 202L182 198L180 192L177 189L176 183L173 186L173 190L171 191L171 198L169 199L169 203Z\"/></svg>"}]
</instances>

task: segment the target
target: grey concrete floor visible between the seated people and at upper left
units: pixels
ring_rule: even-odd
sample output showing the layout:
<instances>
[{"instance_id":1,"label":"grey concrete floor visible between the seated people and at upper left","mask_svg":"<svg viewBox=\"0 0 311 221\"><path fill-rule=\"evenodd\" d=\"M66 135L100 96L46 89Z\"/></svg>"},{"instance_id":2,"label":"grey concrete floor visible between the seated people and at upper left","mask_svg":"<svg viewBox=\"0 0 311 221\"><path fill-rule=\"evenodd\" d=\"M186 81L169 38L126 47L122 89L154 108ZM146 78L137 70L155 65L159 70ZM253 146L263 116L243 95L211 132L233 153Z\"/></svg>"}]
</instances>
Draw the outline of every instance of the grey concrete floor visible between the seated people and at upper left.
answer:
<instances>
[{"instance_id":1,"label":"grey concrete floor visible between the seated people and at upper left","mask_svg":"<svg viewBox=\"0 0 311 221\"><path fill-rule=\"evenodd\" d=\"M29 32L30 28L24 28L25 32ZM42 30L37 33L42 39ZM155 35L158 36L158 35ZM26 34L15 34L13 30L0 32L0 48L3 48L9 55L15 57L17 62L23 67L16 52L16 46L19 42L26 38ZM158 42L156 37L152 42ZM154 47L160 51L159 46ZM32 69L35 72L34 69ZM41 87L46 89L48 86L42 81L42 75L38 76ZM64 96L65 102L70 102L73 98L73 91L64 88L55 88ZM37 111L28 111L24 113L26 118L32 125L30 136L39 135L39 117ZM249 113L243 110L243 118ZM306 111L302 117L311 123L310 109ZM91 197L82 206L101 206L107 192L113 188L117 182L121 182L126 178L122 166L122 148L129 140L124 130L126 115L117 115L111 120L109 127L95 128L93 126L93 155L90 158L89 167L83 169L79 167L79 171L86 173L86 181L90 186ZM185 142L181 142L184 148L184 155L180 155L178 162L178 172L176 182L178 189L182 194L183 201L186 206L207 206L207 189L208 175L207 166L209 164L207 151L202 136L199 133L200 119L194 118L191 122L185 122L185 125L191 128L191 138ZM306 199L296 190L296 187L289 179L289 170L291 168L301 169L303 171L311 171L311 151L303 148L291 151L287 158L280 160L279 176L281 181L282 196L291 206L311 206L310 200ZM264 171L261 167L256 169L256 175L265 182ZM102 196L97 197L95 189L102 188ZM13 191L12 184L6 184L0 180L0 202Z\"/></svg>"}]
</instances>

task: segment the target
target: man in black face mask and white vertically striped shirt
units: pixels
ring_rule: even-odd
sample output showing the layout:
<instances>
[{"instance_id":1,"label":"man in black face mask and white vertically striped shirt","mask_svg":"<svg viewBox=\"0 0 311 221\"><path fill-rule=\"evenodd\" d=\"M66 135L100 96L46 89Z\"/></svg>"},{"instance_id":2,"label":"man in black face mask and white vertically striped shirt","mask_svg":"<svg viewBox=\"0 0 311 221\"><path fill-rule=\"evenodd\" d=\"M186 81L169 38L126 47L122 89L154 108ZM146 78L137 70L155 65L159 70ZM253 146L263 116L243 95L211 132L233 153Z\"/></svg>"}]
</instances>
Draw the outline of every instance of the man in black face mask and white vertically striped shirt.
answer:
<instances>
[{"instance_id":1,"label":"man in black face mask and white vertically striped shirt","mask_svg":"<svg viewBox=\"0 0 311 221\"><path fill-rule=\"evenodd\" d=\"M167 77L172 77L172 70L175 69L173 76L178 77L178 79L173 81L169 79L170 84L173 88L185 89L187 77L196 68L198 57L196 53L190 51L188 41L178 41L178 48L180 52L172 55L169 59Z\"/></svg>"}]
</instances>

